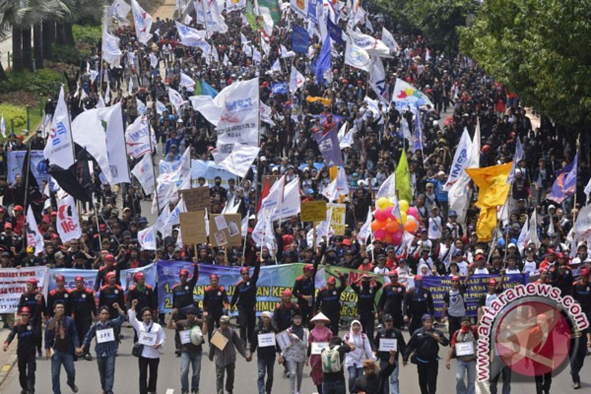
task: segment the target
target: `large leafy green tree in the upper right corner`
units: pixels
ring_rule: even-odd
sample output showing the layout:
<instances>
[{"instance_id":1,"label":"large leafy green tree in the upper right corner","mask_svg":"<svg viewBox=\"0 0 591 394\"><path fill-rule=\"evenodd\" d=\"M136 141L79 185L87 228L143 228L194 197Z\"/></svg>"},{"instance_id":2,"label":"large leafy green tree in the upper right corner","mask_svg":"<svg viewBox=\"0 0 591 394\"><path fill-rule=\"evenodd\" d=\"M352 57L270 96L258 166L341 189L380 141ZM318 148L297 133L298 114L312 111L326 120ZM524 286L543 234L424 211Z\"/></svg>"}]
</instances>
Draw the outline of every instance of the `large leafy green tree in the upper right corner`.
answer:
<instances>
[{"instance_id":1,"label":"large leafy green tree in the upper right corner","mask_svg":"<svg viewBox=\"0 0 591 394\"><path fill-rule=\"evenodd\" d=\"M460 48L558 124L591 122L591 0L488 0Z\"/></svg>"}]
</instances>

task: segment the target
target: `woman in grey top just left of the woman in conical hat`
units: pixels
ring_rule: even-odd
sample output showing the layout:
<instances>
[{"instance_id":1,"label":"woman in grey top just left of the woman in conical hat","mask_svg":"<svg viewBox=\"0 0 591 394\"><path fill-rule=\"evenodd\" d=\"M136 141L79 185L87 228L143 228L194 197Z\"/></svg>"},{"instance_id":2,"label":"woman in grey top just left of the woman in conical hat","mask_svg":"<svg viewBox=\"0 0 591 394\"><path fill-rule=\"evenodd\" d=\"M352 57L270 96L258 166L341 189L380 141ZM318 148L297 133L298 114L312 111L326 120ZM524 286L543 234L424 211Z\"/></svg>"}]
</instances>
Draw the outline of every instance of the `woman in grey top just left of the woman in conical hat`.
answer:
<instances>
[{"instance_id":1,"label":"woman in grey top just left of the woman in conical hat","mask_svg":"<svg viewBox=\"0 0 591 394\"><path fill-rule=\"evenodd\" d=\"M291 327L287 329L290 336L291 346L281 352L279 364L285 360L287 369L290 372L290 394L300 393L301 379L304 375L304 363L309 365L306 354L309 333L307 328L301 324L301 314L297 312L291 318Z\"/></svg>"}]
</instances>

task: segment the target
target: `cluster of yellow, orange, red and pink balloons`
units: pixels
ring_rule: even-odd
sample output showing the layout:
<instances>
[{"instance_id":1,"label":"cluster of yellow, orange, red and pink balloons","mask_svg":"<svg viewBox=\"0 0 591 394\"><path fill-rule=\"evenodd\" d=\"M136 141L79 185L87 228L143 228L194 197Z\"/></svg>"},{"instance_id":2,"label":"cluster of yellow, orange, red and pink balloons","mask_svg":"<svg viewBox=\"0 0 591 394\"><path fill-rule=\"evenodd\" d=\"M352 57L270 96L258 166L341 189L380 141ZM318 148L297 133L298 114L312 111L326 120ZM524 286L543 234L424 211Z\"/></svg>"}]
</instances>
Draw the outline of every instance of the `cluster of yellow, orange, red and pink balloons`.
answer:
<instances>
[{"instance_id":1,"label":"cluster of yellow, orange, red and pink balloons","mask_svg":"<svg viewBox=\"0 0 591 394\"><path fill-rule=\"evenodd\" d=\"M377 204L378 209L374 211L375 220L371 223L374 239L398 246L405 231L414 233L420 226L418 210L410 207L408 201L398 201L400 218L397 217L394 203L388 198L378 198Z\"/></svg>"}]
</instances>

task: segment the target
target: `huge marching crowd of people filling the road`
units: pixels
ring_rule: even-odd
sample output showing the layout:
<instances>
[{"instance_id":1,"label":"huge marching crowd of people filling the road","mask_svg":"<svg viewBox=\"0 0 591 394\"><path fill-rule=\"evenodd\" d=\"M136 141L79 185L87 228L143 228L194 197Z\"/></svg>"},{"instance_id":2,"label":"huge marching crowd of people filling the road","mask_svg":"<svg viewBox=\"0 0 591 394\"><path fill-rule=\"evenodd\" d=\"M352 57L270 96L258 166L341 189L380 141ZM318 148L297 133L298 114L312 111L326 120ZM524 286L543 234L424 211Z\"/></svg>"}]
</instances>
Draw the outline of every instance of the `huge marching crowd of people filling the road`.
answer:
<instances>
[{"instance_id":1,"label":"huge marching crowd of people filling the road","mask_svg":"<svg viewBox=\"0 0 591 394\"><path fill-rule=\"evenodd\" d=\"M447 369L451 368L450 360L456 359L456 391L470 394L475 392L476 323L482 309L489 307L502 291L505 275L523 275L526 279L539 275L538 282L560 288L563 295L572 295L587 320L591 319L591 256L586 243L573 242L574 222L587 200L583 188L591 176L588 151L579 152L574 193L560 203L547 198L558 173L573 161L574 139L562 135L544 118L539 128L532 128L518 97L469 58L442 53L420 35L398 32L395 21L378 12L368 12L365 25L359 24L358 28L376 38L382 37L382 28L393 32L398 48L391 57L383 59L389 96L397 79L401 79L422 90L433 107L424 106L413 115L394 103L379 101L369 87L369 74L344 64L344 46L336 42L339 54L333 56L330 80L316 83L313 64L322 47L320 34L310 37L309 53L288 53L293 27L306 26L288 9L272 34L260 43L259 32L244 21L241 12L223 11L223 15L228 31L215 32L208 38L215 47L215 57L204 54L202 48L181 44L173 19L156 18L148 45L138 42L132 26L113 28L124 53L121 67L111 68L103 63L100 48L96 48L82 76L67 76L66 102L73 118L100 102L106 106L121 102L126 124L138 116L145 116L150 123L157 141L154 156L161 154L164 161L178 162L181 152L189 149L191 159L209 161L216 146L215 127L191 107L189 97L197 83L187 85L182 74L199 82L203 94L208 89L219 92L234 82L258 77L260 100L268 106L269 113L260 124L261 152L255 165L239 183L229 178L222 185L220 177L213 184L207 184L205 178L196 180L210 188L210 213L221 213L232 203L238 204L237 212L242 217L248 216L243 247L180 247L175 226L172 235L158 237L156 250L142 248L138 232L150 223L142 216L141 201L156 197L145 195L135 180L112 190L108 183L100 181L101 170L95 162L90 182L95 205L86 207L89 214L81 217L82 237L62 242L56 228L59 213L55 197L44 196L50 204L38 218L44 250L37 255L33 246L27 246L25 210L27 203L38 203L31 197L27 184L28 169L8 183L6 158L7 152L26 150L27 144L37 144L33 149L42 149L43 137L40 133L23 144L22 138L11 135L1 146L0 268L98 270L93 289L85 288L82 276L76 277L73 289L66 288L63 276L51 278L57 286L47 299L41 295L37 281L30 279L18 305L17 321L13 321L12 314L2 314L4 328L11 330L4 350L18 338L23 394L34 393L35 354L41 357L43 349L51 359L53 393L61 393L62 364L67 384L78 392L74 360L92 360L93 339L102 390L111 394L124 321L131 323L135 331L133 354L138 357L141 394L156 392L159 348L167 340L164 328L174 330L182 393L199 392L202 356L207 351L209 360L215 362L218 394L236 392L236 353L247 362L256 353L260 394L272 392L275 363L282 364L284 377L290 379L291 394L300 393L306 366L310 366L310 377L319 393L340 394L348 390L398 394L400 364L406 367L409 361L417 367L421 393L434 394L440 357L446 357ZM340 24L345 27L346 21ZM196 26L194 22L189 25ZM259 53L258 59L254 53ZM295 93L274 89L277 84L290 82L291 67L304 74L303 87ZM169 102L167 87L183 96L186 103L181 110L177 111ZM48 100L46 113L53 115L55 107L56 100ZM404 123L421 135L420 148L414 148L413 142L405 138ZM286 217L274 223L277 250L256 245L252 231L257 217L253 213L258 209L265 180L280 175L285 175L286 181L298 178L301 200L325 198L332 178L313 134L343 125L345 133L352 131L349 144L341 145L349 190L345 198L344 235L323 237L316 250L307 236L312 223L302 223L297 216ZM478 240L477 192L472 188L466 190L470 206L463 215L450 209L448 192L444 191L465 129L470 136L480 136L480 167L510 162L517 145L522 144L508 214L506 220L499 221L492 243ZM582 138L584 144L590 136ZM375 207L375 191L394 172L404 154L408 157L414 196L409 202L418 212L420 226L408 243L391 245L375 238L366 245L360 233L368 213ZM129 168L137 161L130 157ZM458 220L464 216L465 219ZM537 218L534 232L539 242L519 245L519 235L524 225L530 223L530 216ZM145 283L143 273L134 275L129 289L121 287L123 269L147 266L158 260L194 263L193 272L179 272L168 319L158 310L156 289ZM291 289L282 292L275 310L262 312L257 321L256 286L261 265L294 262L305 264L302 275ZM367 273L358 281L349 281L348 276L335 271L325 287L316 289L314 276L321 263ZM193 295L199 265L203 264L240 266L241 281L228 294L220 286L219 278L210 276L200 307ZM489 279L476 317L467 311L465 294L472 275L480 274L500 278ZM451 281L439 318L431 291L423 285L426 276L449 276ZM409 277L413 278L412 285L407 285ZM349 331L342 334L340 295L348 286L357 295L358 316L350 323ZM238 311L239 333L230 326L228 311L232 310ZM447 324L449 335L436 328L436 323ZM409 330L408 340L402 336L405 326ZM268 334L274 338L270 343ZM591 347L591 331L573 330L573 337L579 339L570 349L570 371L573 388L578 389L579 372L587 347ZM472 344L471 353L470 346L458 347L459 343ZM441 353L440 346L449 350ZM462 354L458 354L458 349L462 349ZM502 392L508 394L511 369L504 367L493 374L491 393L497 392L499 378ZM550 384L551 376L535 378L537 393L550 392Z\"/></svg>"}]
</instances>

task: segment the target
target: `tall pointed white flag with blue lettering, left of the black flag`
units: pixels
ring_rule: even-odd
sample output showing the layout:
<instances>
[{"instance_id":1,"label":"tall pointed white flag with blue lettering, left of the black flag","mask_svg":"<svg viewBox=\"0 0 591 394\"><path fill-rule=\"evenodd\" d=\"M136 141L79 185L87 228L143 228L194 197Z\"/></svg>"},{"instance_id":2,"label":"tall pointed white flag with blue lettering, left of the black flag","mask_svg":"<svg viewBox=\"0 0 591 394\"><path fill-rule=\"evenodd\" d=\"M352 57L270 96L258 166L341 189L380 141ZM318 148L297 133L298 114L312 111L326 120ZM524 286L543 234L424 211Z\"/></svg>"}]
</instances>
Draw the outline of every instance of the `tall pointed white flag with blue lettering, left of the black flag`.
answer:
<instances>
[{"instance_id":1,"label":"tall pointed white flag with blue lettering, left of the black flag","mask_svg":"<svg viewBox=\"0 0 591 394\"><path fill-rule=\"evenodd\" d=\"M2 115L4 125L4 115ZM4 126L5 128L6 126ZM4 131L2 131L4 135ZM67 170L74 164L74 149L72 145L72 132L70 131L70 114L64 100L64 87L61 86L60 95L57 98L56 111L51 121L51 132L47 138L47 144L43 155L49 164L56 164Z\"/></svg>"}]
</instances>

